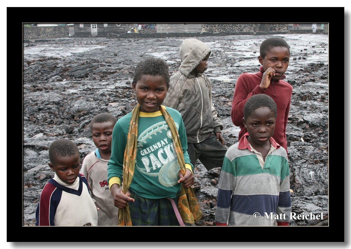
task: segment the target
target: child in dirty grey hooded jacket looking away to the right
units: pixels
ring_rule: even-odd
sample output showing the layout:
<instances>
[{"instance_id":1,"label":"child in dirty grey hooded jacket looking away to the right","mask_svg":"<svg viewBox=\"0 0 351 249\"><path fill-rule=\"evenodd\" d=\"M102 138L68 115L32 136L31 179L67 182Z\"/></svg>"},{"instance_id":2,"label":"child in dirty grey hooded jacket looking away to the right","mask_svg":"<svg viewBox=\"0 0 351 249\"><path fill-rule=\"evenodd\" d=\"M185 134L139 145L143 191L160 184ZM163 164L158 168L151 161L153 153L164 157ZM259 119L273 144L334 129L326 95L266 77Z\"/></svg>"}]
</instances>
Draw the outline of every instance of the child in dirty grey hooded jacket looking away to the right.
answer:
<instances>
[{"instance_id":1,"label":"child in dirty grey hooded jacket looking away to the right","mask_svg":"<svg viewBox=\"0 0 351 249\"><path fill-rule=\"evenodd\" d=\"M212 84L204 74L211 49L191 38L183 41L179 54L181 65L170 78L164 105L181 113L191 164L199 159L207 170L221 167L228 148L221 134L223 123L212 104Z\"/></svg>"}]
</instances>

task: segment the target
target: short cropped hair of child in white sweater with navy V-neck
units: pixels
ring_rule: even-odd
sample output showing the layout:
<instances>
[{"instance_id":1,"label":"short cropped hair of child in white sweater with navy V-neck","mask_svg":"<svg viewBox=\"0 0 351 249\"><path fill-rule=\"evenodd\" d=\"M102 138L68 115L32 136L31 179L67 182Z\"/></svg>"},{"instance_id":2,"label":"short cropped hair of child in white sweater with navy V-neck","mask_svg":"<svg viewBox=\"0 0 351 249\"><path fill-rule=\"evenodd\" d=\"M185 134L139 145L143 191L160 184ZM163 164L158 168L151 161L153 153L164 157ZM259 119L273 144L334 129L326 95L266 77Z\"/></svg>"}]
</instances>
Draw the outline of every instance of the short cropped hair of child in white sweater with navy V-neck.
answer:
<instances>
[{"instance_id":1,"label":"short cropped hair of child in white sweater with navy V-neck","mask_svg":"<svg viewBox=\"0 0 351 249\"><path fill-rule=\"evenodd\" d=\"M49 159L52 164L56 162L58 156L68 157L76 154L79 156L77 145L65 138L56 140L49 147Z\"/></svg>"}]
</instances>

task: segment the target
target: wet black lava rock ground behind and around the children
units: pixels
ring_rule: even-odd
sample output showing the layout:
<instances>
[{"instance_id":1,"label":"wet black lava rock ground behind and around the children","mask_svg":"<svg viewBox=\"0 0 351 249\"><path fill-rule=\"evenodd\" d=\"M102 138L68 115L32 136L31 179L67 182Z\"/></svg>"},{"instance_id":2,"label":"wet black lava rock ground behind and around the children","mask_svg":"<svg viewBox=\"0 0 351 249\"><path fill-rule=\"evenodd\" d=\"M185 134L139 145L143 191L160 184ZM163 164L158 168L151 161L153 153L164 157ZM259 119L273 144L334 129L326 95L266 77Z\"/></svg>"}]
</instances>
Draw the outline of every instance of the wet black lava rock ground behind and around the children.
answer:
<instances>
[{"instance_id":1,"label":"wet black lava rock ground behind and around the children","mask_svg":"<svg viewBox=\"0 0 351 249\"><path fill-rule=\"evenodd\" d=\"M230 118L236 80L256 73L264 36L208 36L212 54L207 76L213 103L224 122L227 147L238 141ZM290 226L328 225L328 36L276 35L291 47L286 79L293 87L286 135L290 163L292 212L320 214L324 220L291 220ZM23 69L23 225L35 224L42 188L53 176L48 148L59 138L77 144L81 161L95 149L89 130L93 116L108 112L120 118L136 105L131 81L143 58L163 58L174 74L185 38L59 38L24 41ZM197 226L213 226L220 168L194 169L203 218Z\"/></svg>"}]
</instances>

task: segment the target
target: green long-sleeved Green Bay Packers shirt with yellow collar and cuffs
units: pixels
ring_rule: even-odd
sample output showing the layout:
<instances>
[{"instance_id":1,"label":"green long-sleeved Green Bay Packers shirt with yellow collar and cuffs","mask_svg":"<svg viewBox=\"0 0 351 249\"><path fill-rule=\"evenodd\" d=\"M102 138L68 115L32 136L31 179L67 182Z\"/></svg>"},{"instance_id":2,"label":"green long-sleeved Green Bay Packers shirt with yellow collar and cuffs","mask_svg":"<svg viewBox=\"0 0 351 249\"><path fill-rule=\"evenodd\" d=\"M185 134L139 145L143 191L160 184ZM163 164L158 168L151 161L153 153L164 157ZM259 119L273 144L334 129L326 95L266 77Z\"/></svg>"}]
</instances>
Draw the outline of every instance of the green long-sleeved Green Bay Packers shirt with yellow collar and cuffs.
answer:
<instances>
[{"instance_id":1,"label":"green long-sleeved Green Bay Packers shirt with yellow collar and cuffs","mask_svg":"<svg viewBox=\"0 0 351 249\"><path fill-rule=\"evenodd\" d=\"M190 164L187 140L180 113L166 108L176 124L183 149L184 161ZM112 177L122 179L123 158L132 113L120 118L113 128L111 157L108 162L107 180ZM193 169L193 165L192 169ZM180 166L174 152L171 130L160 111L139 114L138 144L135 169L130 189L144 198L174 198L180 191L178 183Z\"/></svg>"}]
</instances>

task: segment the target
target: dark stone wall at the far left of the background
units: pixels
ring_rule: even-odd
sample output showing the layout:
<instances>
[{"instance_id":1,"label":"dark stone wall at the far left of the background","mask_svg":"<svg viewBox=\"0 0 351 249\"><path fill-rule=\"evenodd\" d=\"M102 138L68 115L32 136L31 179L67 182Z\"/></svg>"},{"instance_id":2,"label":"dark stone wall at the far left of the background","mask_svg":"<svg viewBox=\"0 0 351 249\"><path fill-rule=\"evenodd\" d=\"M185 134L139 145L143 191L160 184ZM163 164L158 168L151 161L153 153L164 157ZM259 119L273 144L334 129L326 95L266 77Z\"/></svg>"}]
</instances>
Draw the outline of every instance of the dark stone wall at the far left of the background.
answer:
<instances>
[{"instance_id":1,"label":"dark stone wall at the far left of the background","mask_svg":"<svg viewBox=\"0 0 351 249\"><path fill-rule=\"evenodd\" d=\"M69 37L69 26L23 27L23 39L53 39Z\"/></svg>"}]
</instances>

